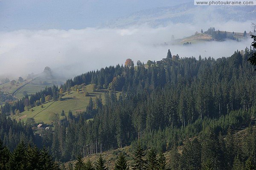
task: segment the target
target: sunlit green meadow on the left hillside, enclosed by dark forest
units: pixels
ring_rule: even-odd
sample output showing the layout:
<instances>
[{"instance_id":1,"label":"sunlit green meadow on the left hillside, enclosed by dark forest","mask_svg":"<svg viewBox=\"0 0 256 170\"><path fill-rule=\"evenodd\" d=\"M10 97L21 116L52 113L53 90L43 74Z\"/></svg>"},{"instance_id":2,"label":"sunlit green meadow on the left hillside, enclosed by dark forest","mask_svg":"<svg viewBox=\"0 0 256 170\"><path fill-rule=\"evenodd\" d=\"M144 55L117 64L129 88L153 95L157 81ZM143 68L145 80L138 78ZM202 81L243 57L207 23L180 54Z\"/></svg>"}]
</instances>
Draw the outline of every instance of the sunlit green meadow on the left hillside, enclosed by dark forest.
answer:
<instances>
[{"instance_id":1,"label":"sunlit green meadow on the left hillside, enclosed by dark forest","mask_svg":"<svg viewBox=\"0 0 256 170\"><path fill-rule=\"evenodd\" d=\"M51 113L61 113L62 110L65 113L68 111L72 111L73 113L84 111L89 104L90 97L95 99L96 96L102 96L102 102L105 102L105 92L107 90L95 91L92 90L92 85L87 85L86 90L89 93L89 96L85 96L84 93L80 90L79 93L75 91L71 91L70 94L64 94L62 96L62 101L50 101L43 104L43 108L40 106L36 106L30 109L29 111L24 111L19 114L19 116L13 116L13 119L16 120L23 120L26 122L27 118L33 117L35 122L44 122L44 123L51 123L52 121L49 119ZM62 116L60 116L62 119Z\"/></svg>"}]
</instances>

